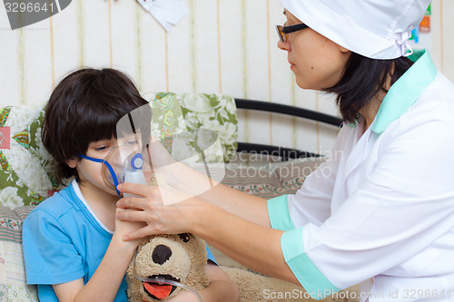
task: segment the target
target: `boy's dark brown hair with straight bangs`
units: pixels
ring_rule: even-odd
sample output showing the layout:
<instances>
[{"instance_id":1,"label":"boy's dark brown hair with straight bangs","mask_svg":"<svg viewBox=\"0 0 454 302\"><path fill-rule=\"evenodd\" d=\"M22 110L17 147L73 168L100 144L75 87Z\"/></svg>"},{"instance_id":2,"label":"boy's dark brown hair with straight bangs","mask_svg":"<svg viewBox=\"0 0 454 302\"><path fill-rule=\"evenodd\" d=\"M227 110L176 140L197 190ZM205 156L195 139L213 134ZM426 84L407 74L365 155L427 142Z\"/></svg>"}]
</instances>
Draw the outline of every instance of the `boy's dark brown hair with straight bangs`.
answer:
<instances>
[{"instance_id":1,"label":"boy's dark brown hair with straight bangs","mask_svg":"<svg viewBox=\"0 0 454 302\"><path fill-rule=\"evenodd\" d=\"M116 138L117 122L146 104L131 79L114 69L84 68L68 74L55 87L44 112L42 139L56 163L55 179L79 180L77 170L66 161L85 155L90 142ZM151 120L151 109L149 114ZM150 123L141 129L143 138L150 137L149 128Z\"/></svg>"}]
</instances>

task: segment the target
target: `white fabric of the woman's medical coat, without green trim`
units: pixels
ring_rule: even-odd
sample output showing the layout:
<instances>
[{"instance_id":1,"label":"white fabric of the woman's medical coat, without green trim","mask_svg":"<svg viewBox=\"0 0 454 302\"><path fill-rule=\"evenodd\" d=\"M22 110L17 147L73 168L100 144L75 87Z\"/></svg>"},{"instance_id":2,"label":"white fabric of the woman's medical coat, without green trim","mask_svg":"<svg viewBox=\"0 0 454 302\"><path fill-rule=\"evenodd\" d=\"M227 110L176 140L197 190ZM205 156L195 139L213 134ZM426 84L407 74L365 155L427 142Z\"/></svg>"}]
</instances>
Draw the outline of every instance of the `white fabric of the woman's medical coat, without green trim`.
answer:
<instances>
[{"instance_id":1,"label":"white fabric of the woman's medical coat, without green trim","mask_svg":"<svg viewBox=\"0 0 454 302\"><path fill-rule=\"evenodd\" d=\"M289 196L305 253L334 286L374 277L370 302L452 301L453 116L454 86L438 73L380 135L345 125L331 159Z\"/></svg>"}]
</instances>

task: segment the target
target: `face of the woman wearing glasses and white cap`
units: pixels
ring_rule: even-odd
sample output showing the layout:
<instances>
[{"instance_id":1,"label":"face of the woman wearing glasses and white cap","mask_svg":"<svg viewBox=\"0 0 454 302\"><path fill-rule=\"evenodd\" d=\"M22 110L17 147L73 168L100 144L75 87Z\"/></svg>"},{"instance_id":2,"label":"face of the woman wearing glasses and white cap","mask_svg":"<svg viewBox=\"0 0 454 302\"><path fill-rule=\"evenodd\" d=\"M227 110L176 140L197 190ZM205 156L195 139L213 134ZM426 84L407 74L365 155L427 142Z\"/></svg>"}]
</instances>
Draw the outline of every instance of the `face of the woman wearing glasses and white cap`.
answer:
<instances>
[{"instance_id":1,"label":"face of the woman wearing glasses and white cap","mask_svg":"<svg viewBox=\"0 0 454 302\"><path fill-rule=\"evenodd\" d=\"M285 25L301 24L287 10ZM278 47L288 53L291 71L296 83L303 89L322 90L334 86L341 80L350 51L328 38L306 28L288 34L286 42L278 42Z\"/></svg>"}]
</instances>

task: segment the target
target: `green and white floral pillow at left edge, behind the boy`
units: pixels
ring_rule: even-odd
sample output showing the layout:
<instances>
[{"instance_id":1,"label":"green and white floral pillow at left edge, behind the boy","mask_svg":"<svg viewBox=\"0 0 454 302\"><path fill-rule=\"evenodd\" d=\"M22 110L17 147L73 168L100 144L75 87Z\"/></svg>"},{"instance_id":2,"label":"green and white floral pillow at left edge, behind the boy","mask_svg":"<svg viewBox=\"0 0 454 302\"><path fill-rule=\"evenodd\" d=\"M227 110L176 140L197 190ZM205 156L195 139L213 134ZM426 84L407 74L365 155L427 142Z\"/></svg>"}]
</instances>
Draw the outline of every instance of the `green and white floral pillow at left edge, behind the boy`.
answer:
<instances>
[{"instance_id":1,"label":"green and white floral pillow at left edge, behind the boy","mask_svg":"<svg viewBox=\"0 0 454 302\"><path fill-rule=\"evenodd\" d=\"M57 189L41 141L44 105L0 109L0 205L36 205Z\"/></svg>"}]
</instances>

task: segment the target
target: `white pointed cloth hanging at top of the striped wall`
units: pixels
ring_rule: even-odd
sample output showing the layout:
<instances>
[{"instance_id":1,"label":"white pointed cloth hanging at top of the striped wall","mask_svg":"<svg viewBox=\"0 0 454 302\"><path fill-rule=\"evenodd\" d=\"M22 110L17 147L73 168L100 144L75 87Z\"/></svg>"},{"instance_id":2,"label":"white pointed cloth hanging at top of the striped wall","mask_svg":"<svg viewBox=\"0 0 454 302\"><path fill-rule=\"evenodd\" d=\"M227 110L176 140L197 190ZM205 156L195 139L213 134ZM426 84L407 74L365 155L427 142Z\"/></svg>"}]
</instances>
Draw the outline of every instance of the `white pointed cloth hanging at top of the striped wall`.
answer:
<instances>
[{"instance_id":1,"label":"white pointed cloth hanging at top of the striped wall","mask_svg":"<svg viewBox=\"0 0 454 302\"><path fill-rule=\"evenodd\" d=\"M188 14L183 0L137 0L168 32Z\"/></svg>"}]
</instances>

